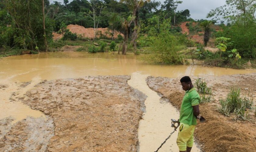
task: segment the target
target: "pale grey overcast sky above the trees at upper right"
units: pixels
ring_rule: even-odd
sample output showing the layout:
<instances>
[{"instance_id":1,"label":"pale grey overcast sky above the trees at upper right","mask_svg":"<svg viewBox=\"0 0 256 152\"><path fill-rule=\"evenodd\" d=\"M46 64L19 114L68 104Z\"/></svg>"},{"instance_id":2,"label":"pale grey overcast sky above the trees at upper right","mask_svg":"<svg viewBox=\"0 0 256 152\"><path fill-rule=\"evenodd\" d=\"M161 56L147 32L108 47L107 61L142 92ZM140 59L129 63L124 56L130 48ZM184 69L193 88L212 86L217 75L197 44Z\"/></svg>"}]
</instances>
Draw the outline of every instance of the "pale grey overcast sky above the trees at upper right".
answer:
<instances>
[{"instance_id":1,"label":"pale grey overcast sky above the trees at upper right","mask_svg":"<svg viewBox=\"0 0 256 152\"><path fill-rule=\"evenodd\" d=\"M58 1L62 2L63 0L50 0L50 2ZM69 0L71 2L73 0ZM88 0L89 1L89 0ZM160 1L162 4L165 0L155 0ZM183 3L178 6L177 10L190 10L190 17L192 19L206 19L207 13L211 9L225 5L225 0L182 0Z\"/></svg>"}]
</instances>

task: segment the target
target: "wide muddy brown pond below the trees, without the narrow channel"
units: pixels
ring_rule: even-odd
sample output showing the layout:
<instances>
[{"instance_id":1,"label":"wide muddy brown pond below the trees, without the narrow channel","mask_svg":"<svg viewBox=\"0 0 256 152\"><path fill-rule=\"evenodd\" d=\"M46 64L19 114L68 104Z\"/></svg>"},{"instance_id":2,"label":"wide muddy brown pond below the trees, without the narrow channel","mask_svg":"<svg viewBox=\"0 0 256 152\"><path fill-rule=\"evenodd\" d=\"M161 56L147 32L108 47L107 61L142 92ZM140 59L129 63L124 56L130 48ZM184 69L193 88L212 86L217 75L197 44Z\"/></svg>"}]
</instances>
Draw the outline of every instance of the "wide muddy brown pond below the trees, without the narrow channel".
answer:
<instances>
[{"instance_id":1,"label":"wide muddy brown pond below the trees, without the narrow channel","mask_svg":"<svg viewBox=\"0 0 256 152\"><path fill-rule=\"evenodd\" d=\"M32 110L27 105L18 102L18 99L22 98L22 95L27 91L33 90L35 84L45 79L78 78L88 75L131 75L137 71L140 71L141 74L170 78L183 75L224 75L255 72L255 70L201 66L150 65L137 58L140 56L134 54L123 56L84 52L41 53L4 58L0 60L0 112L2 112L0 117L2 116L1 119L11 118L12 123L15 123L27 116L36 118L43 116L41 112ZM25 81L30 81L31 84L20 88L21 82ZM14 92L18 98L12 98Z\"/></svg>"}]
</instances>

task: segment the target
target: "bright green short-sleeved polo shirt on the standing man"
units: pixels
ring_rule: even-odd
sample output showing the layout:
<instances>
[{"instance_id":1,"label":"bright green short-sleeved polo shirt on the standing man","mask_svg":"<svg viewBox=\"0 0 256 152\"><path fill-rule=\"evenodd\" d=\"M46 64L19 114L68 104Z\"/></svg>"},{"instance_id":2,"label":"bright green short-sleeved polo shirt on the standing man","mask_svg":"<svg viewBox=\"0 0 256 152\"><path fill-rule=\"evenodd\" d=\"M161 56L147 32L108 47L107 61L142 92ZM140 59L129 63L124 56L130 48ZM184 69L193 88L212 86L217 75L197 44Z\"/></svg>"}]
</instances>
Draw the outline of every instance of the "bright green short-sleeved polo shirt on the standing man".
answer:
<instances>
[{"instance_id":1,"label":"bright green short-sleeved polo shirt on the standing man","mask_svg":"<svg viewBox=\"0 0 256 152\"><path fill-rule=\"evenodd\" d=\"M197 93L196 88L191 88L186 91L181 106L180 106L180 122L187 125L196 125L197 119L194 116L193 107L199 105L200 95Z\"/></svg>"}]
</instances>

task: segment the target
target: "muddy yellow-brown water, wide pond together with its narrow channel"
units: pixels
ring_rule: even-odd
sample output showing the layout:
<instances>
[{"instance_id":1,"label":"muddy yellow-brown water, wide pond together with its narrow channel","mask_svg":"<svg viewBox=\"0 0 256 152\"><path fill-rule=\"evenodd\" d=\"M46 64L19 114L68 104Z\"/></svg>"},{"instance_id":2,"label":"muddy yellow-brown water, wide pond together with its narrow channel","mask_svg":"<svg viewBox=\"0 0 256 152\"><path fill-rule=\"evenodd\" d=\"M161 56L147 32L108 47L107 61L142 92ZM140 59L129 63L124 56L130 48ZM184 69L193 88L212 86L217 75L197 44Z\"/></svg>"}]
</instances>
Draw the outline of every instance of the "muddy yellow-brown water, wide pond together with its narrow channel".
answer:
<instances>
[{"instance_id":1,"label":"muddy yellow-brown water, wide pond together with its narrow channel","mask_svg":"<svg viewBox=\"0 0 256 152\"><path fill-rule=\"evenodd\" d=\"M12 124L27 118L45 116L21 102L12 102L13 92L22 96L42 80L77 78L88 75L131 75L128 84L143 92L146 112L140 121L138 138L140 151L156 150L172 131L170 119L178 119L179 112L169 103L161 102L160 96L146 84L147 76L177 78L184 75L231 75L254 73L255 70L235 70L201 66L167 66L146 64L134 54L88 54L86 52L56 52L35 55L12 56L0 60L0 85L6 85L0 93L0 119L12 118ZM21 82L30 82L20 87ZM177 132L159 151L177 151ZM199 151L193 148L193 151Z\"/></svg>"}]
</instances>

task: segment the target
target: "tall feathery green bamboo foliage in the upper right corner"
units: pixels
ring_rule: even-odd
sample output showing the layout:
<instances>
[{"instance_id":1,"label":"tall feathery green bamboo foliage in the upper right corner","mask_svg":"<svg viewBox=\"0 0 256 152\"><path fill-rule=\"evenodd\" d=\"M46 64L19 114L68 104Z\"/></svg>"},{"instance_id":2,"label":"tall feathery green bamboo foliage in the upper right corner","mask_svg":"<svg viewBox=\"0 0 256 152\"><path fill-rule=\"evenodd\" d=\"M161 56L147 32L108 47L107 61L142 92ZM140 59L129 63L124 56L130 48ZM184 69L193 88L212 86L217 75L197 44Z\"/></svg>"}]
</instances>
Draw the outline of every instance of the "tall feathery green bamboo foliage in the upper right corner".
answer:
<instances>
[{"instance_id":1,"label":"tall feathery green bamboo foliage in the upper right corner","mask_svg":"<svg viewBox=\"0 0 256 152\"><path fill-rule=\"evenodd\" d=\"M236 48L241 57L256 58L255 8L254 0L226 0L224 6L208 13L208 17L228 22L222 26L223 31L217 32L218 36L230 38L233 41L230 48Z\"/></svg>"}]
</instances>

